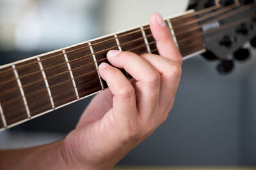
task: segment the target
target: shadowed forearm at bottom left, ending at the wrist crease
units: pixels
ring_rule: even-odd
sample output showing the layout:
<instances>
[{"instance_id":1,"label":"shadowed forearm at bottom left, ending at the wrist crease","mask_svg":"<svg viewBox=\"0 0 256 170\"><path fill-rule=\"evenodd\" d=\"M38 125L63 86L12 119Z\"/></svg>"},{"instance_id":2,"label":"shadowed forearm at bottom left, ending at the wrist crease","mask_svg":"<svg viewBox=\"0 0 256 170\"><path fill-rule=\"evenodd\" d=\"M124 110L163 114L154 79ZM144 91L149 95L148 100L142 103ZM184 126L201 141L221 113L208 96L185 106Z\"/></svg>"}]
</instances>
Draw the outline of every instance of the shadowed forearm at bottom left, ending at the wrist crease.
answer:
<instances>
[{"instance_id":1,"label":"shadowed forearm at bottom left, ending at the wrist crease","mask_svg":"<svg viewBox=\"0 0 256 170\"><path fill-rule=\"evenodd\" d=\"M67 169L61 143L0 151L0 169Z\"/></svg>"}]
</instances>

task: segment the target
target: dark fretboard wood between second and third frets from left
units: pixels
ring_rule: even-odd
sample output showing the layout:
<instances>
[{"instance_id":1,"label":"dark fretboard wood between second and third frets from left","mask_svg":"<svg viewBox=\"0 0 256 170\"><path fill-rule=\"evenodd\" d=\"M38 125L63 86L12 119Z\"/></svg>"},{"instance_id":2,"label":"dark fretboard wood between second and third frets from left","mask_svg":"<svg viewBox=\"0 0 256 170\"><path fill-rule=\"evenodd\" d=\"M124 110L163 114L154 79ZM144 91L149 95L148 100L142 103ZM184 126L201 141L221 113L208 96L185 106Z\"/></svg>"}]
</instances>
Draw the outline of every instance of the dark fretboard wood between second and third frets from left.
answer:
<instances>
[{"instance_id":1,"label":"dark fretboard wood between second and third frets from left","mask_svg":"<svg viewBox=\"0 0 256 170\"><path fill-rule=\"evenodd\" d=\"M51 110L51 101L44 77L38 61L28 60L16 65L20 77L30 115L38 115L44 111Z\"/></svg>"}]
</instances>

